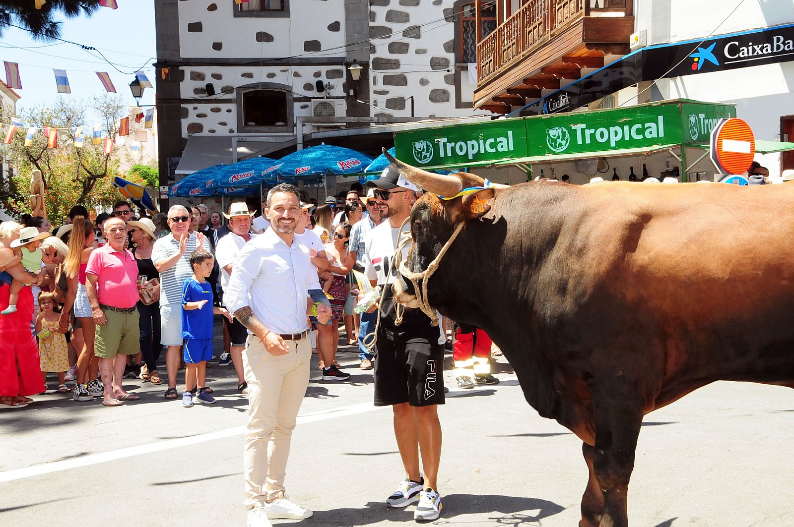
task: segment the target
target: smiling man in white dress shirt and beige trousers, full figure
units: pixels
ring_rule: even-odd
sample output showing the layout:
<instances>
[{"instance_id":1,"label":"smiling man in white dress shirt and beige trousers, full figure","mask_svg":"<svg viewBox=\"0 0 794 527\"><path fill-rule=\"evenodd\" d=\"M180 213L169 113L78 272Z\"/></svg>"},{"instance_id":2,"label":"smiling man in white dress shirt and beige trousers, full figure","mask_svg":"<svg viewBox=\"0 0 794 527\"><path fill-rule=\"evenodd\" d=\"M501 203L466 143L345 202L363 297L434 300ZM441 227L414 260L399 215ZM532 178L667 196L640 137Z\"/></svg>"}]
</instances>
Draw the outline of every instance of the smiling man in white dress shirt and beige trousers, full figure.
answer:
<instances>
[{"instance_id":1,"label":"smiling man in white dress shirt and beige trousers, full figure","mask_svg":"<svg viewBox=\"0 0 794 527\"><path fill-rule=\"evenodd\" d=\"M243 456L249 527L268 527L268 518L312 515L284 494L292 430L309 383L306 316L324 324L331 314L309 298L316 273L309 249L295 240L300 212L295 187L283 183L270 190L264 207L270 229L242 248L224 294L250 333L243 353L250 403Z\"/></svg>"}]
</instances>

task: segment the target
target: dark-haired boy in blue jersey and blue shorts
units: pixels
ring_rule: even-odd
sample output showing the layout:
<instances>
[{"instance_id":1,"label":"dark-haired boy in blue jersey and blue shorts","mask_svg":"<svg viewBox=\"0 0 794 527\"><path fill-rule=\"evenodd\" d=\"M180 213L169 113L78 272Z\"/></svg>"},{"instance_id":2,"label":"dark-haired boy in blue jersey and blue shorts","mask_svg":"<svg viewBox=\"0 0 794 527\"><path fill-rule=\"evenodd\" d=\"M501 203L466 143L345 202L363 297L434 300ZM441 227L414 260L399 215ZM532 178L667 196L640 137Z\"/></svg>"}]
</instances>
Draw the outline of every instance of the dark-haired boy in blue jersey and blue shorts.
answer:
<instances>
[{"instance_id":1,"label":"dark-haired boy in blue jersey and blue shorts","mask_svg":"<svg viewBox=\"0 0 794 527\"><path fill-rule=\"evenodd\" d=\"M206 281L212 272L215 259L205 249L191 253L193 276L185 280L182 287L182 338L184 360L187 367L182 406L193 406L191 389L198 387L196 399L212 404L215 399L207 393L206 361L212 358L212 316L222 314L231 321L232 315L222 307L212 305L212 286Z\"/></svg>"}]
</instances>

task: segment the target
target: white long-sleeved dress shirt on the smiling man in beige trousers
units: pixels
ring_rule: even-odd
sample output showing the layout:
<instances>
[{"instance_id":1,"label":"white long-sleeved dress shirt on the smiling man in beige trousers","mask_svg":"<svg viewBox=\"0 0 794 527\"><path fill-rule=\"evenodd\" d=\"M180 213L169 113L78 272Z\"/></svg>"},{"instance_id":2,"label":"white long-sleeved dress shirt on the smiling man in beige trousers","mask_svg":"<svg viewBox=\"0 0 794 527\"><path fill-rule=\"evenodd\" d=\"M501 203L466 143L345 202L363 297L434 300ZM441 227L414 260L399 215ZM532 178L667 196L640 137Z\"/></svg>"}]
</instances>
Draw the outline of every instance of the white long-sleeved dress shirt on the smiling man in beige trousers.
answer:
<instances>
[{"instance_id":1,"label":"white long-sleeved dress shirt on the smiling man in beige trousers","mask_svg":"<svg viewBox=\"0 0 794 527\"><path fill-rule=\"evenodd\" d=\"M237 256L229 287L224 287L224 302L232 313L250 306L273 333L303 333L312 275L316 276L309 249L295 239L287 246L268 229Z\"/></svg>"}]
</instances>

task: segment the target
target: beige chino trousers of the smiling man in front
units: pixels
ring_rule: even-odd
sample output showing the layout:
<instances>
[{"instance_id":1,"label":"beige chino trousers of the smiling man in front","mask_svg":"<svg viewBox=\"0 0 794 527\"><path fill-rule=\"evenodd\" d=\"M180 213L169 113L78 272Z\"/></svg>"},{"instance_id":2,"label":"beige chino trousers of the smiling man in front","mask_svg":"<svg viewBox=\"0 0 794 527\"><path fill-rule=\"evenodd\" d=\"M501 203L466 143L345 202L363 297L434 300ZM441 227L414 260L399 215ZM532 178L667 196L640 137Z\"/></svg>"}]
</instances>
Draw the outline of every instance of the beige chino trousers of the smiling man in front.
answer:
<instances>
[{"instance_id":1,"label":"beige chino trousers of the smiling man in front","mask_svg":"<svg viewBox=\"0 0 794 527\"><path fill-rule=\"evenodd\" d=\"M249 422L243 464L245 506L262 506L284 491L292 429L309 384L309 340L284 340L287 355L272 356L249 335L243 352Z\"/></svg>"}]
</instances>

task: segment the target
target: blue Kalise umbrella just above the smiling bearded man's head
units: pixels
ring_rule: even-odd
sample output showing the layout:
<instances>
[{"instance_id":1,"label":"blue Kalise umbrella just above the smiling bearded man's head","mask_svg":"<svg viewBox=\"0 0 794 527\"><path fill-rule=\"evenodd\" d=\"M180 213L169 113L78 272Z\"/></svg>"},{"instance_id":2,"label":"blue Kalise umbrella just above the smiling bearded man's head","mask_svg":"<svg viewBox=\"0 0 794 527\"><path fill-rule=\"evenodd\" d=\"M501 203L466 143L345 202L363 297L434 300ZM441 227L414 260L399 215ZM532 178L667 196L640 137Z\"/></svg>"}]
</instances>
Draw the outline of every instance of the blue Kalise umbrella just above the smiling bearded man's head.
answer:
<instances>
[{"instance_id":1,"label":"blue Kalise umbrella just above the smiling bearded man's head","mask_svg":"<svg viewBox=\"0 0 794 527\"><path fill-rule=\"evenodd\" d=\"M279 183L297 178L317 178L325 175L353 175L364 171L372 157L352 148L318 144L283 156L262 172L266 183Z\"/></svg>"}]
</instances>

